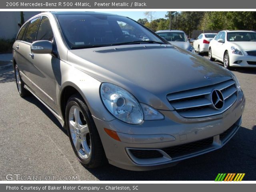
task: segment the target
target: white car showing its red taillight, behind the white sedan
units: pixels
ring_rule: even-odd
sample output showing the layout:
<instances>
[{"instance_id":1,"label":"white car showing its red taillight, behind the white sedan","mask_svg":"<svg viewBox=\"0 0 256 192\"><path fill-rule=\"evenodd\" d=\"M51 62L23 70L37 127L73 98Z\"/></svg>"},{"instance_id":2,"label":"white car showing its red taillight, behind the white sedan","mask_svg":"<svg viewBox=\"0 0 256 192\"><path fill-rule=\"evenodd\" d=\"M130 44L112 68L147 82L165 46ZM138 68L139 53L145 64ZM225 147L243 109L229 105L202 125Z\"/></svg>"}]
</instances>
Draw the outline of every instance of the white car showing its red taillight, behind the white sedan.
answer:
<instances>
[{"instance_id":1,"label":"white car showing its red taillight, behind the white sedan","mask_svg":"<svg viewBox=\"0 0 256 192\"><path fill-rule=\"evenodd\" d=\"M193 43L195 51L198 54L208 52L210 41L216 36L216 33L201 33Z\"/></svg>"}]
</instances>

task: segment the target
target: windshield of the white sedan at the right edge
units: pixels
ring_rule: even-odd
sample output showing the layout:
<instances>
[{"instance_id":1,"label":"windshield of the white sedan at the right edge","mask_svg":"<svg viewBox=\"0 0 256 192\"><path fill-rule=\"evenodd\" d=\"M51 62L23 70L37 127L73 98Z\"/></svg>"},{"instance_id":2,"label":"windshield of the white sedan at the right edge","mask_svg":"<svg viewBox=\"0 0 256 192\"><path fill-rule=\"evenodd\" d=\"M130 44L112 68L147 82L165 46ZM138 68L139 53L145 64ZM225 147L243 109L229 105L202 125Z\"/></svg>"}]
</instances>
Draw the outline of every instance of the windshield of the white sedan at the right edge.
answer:
<instances>
[{"instance_id":1,"label":"windshield of the white sedan at the right edge","mask_svg":"<svg viewBox=\"0 0 256 192\"><path fill-rule=\"evenodd\" d=\"M256 32L228 32L228 41L256 41Z\"/></svg>"}]
</instances>

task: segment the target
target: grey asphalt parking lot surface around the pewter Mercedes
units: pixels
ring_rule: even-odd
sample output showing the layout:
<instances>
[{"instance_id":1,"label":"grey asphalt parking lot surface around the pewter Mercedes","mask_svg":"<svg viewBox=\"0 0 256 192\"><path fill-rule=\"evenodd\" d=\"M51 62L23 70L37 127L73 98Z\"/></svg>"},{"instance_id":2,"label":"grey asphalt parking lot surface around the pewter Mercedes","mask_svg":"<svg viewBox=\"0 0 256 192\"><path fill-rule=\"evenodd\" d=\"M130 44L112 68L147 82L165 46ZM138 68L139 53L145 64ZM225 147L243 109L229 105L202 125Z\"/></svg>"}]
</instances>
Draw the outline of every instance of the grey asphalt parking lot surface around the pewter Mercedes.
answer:
<instances>
[{"instance_id":1,"label":"grey asphalt parking lot surface around the pewter Mercedes","mask_svg":"<svg viewBox=\"0 0 256 192\"><path fill-rule=\"evenodd\" d=\"M233 72L246 96L246 108L242 127L228 144L171 168L132 172L111 165L84 168L58 120L34 96L18 95L12 68L0 70L0 180L7 174L78 176L78 180L214 180L218 173L245 173L243 180L256 180L256 69Z\"/></svg>"}]
</instances>

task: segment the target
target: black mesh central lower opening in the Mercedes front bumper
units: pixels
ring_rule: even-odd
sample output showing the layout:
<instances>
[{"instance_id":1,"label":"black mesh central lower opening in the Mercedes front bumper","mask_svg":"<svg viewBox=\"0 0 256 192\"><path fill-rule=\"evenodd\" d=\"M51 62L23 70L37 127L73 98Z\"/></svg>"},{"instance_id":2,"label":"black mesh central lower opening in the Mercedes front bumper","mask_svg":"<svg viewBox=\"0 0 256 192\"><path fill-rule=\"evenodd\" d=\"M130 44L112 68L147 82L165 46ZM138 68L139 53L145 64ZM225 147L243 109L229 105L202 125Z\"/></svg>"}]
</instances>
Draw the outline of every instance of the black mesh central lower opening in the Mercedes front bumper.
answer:
<instances>
[{"instance_id":1,"label":"black mesh central lower opening in the Mercedes front bumper","mask_svg":"<svg viewBox=\"0 0 256 192\"><path fill-rule=\"evenodd\" d=\"M162 148L164 152L166 152L172 160L175 158L179 158L181 156L189 155L195 152L198 152L200 150L204 150L207 148L210 148L212 146L213 142L213 137L191 142L191 143L186 143L182 145L177 145L173 147L168 147L168 148Z\"/></svg>"}]
</instances>

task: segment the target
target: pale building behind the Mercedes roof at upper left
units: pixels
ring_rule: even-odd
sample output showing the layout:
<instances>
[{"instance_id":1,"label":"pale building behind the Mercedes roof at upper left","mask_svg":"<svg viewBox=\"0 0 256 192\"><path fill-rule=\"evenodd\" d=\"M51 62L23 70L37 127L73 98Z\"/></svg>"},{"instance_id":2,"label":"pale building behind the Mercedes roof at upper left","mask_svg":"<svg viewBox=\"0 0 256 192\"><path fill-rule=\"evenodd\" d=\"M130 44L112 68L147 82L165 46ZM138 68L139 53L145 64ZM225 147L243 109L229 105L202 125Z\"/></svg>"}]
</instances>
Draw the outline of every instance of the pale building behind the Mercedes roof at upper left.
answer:
<instances>
[{"instance_id":1,"label":"pale building behind the Mercedes roof at upper left","mask_svg":"<svg viewBox=\"0 0 256 192\"><path fill-rule=\"evenodd\" d=\"M39 11L24 11L24 21L30 19L32 16L39 14ZM0 39L16 38L20 30L20 11L1 11L0 12Z\"/></svg>"}]
</instances>

